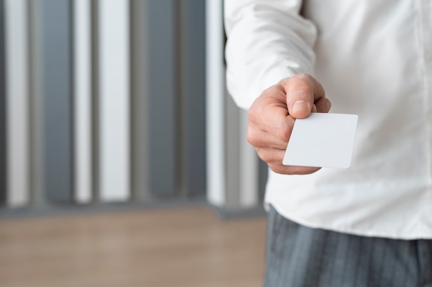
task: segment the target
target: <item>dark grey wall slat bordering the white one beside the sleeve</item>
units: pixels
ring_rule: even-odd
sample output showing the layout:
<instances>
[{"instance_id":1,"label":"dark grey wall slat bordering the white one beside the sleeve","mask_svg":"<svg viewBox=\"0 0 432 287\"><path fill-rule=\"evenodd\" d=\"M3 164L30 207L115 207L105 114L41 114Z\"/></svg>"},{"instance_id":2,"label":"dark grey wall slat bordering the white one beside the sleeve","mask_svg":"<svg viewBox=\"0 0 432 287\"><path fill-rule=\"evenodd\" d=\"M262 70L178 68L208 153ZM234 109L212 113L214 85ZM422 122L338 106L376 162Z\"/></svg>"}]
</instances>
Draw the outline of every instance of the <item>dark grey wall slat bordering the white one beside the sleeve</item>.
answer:
<instances>
[{"instance_id":1,"label":"dark grey wall slat bordering the white one beside the sleeve","mask_svg":"<svg viewBox=\"0 0 432 287\"><path fill-rule=\"evenodd\" d=\"M188 195L200 195L206 191L206 1L184 0L181 3L183 172Z\"/></svg>"}]
</instances>

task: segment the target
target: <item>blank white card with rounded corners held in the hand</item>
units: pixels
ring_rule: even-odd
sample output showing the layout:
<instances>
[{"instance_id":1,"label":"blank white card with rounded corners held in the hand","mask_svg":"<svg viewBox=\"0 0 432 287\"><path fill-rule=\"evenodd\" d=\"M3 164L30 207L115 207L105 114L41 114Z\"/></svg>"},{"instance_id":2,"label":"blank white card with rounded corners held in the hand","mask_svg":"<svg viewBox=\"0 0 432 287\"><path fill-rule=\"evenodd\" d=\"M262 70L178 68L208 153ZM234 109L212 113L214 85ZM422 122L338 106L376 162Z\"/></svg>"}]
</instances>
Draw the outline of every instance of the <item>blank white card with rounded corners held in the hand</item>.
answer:
<instances>
[{"instance_id":1,"label":"blank white card with rounded corners held in the hand","mask_svg":"<svg viewBox=\"0 0 432 287\"><path fill-rule=\"evenodd\" d=\"M283 164L300 167L351 167L357 115L312 113L296 119Z\"/></svg>"}]
</instances>

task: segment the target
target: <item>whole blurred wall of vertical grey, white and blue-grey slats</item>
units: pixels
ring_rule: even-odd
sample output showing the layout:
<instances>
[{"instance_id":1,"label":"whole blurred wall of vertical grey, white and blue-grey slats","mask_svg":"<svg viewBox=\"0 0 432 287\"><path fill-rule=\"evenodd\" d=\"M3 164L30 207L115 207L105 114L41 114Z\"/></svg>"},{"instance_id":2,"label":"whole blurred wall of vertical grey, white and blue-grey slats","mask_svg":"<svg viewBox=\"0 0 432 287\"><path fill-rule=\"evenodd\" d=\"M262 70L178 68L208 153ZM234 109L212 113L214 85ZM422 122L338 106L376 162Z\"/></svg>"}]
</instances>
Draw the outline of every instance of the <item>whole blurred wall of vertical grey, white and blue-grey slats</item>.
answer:
<instances>
[{"instance_id":1,"label":"whole blurred wall of vertical grey, white and blue-grey slats","mask_svg":"<svg viewBox=\"0 0 432 287\"><path fill-rule=\"evenodd\" d=\"M222 1L0 0L0 215L207 198L266 169L224 84Z\"/></svg>"}]
</instances>

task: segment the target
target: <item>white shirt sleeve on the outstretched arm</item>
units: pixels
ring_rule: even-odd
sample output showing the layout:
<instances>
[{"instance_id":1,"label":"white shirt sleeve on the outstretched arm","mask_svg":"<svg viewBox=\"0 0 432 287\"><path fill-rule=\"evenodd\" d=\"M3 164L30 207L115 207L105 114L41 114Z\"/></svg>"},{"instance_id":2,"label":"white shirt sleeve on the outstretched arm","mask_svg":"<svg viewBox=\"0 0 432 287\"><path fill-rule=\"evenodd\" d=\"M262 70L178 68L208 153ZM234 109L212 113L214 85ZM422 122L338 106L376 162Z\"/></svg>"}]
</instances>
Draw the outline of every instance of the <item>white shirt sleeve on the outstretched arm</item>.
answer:
<instances>
[{"instance_id":1,"label":"white shirt sleeve on the outstretched arm","mask_svg":"<svg viewBox=\"0 0 432 287\"><path fill-rule=\"evenodd\" d=\"M226 85L248 109L283 78L313 72L317 30L300 14L300 0L225 0Z\"/></svg>"}]
</instances>

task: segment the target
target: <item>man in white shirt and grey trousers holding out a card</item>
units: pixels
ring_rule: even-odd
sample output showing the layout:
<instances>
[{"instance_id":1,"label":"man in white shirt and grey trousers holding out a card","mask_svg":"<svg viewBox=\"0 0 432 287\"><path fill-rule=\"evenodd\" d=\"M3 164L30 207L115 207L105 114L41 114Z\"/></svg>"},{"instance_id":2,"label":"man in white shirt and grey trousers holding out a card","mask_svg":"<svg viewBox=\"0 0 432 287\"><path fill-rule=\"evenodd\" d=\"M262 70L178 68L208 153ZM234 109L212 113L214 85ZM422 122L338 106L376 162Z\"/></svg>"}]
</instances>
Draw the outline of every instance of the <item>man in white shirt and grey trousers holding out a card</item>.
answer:
<instances>
[{"instance_id":1,"label":"man in white shirt and grey trousers holding out a card","mask_svg":"<svg viewBox=\"0 0 432 287\"><path fill-rule=\"evenodd\" d=\"M431 287L432 1L224 5L228 91L270 168L264 286ZM359 115L351 168L284 166L295 118L330 107Z\"/></svg>"}]
</instances>

